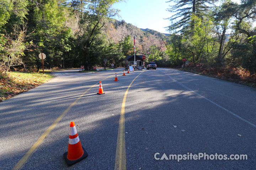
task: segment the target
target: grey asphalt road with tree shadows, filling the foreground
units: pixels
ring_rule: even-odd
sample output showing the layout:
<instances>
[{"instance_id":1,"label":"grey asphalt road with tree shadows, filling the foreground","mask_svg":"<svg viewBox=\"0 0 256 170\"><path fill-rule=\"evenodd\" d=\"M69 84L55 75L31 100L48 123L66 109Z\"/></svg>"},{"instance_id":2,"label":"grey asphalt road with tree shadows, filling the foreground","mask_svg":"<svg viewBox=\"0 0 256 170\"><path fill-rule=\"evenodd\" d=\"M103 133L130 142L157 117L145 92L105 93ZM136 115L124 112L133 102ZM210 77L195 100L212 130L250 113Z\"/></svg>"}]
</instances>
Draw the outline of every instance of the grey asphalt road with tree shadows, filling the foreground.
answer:
<instances>
[{"instance_id":1,"label":"grey asphalt road with tree shadows, filling the foreground","mask_svg":"<svg viewBox=\"0 0 256 170\"><path fill-rule=\"evenodd\" d=\"M113 81L115 73L119 81ZM53 74L48 83L0 103L0 169L18 162L22 170L113 170L120 162L127 170L256 169L253 87L167 68L126 76L122 69ZM97 95L100 80L104 95ZM69 167L63 153L70 121L89 156ZM125 151L121 161L120 146ZM218 153L247 154L248 159L178 162L156 160L155 153L156 158ZM24 155L28 159L21 161Z\"/></svg>"}]
</instances>

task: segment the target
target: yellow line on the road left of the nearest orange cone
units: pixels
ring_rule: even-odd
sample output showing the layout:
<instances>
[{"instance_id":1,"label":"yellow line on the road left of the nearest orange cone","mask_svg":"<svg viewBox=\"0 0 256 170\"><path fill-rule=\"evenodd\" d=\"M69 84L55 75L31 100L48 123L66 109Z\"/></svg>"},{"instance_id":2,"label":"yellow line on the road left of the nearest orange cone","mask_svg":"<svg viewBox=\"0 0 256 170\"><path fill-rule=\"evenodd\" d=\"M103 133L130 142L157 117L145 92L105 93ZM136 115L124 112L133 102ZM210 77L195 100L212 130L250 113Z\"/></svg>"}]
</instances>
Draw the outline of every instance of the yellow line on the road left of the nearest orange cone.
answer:
<instances>
[{"instance_id":1,"label":"yellow line on the road left of the nearest orange cone","mask_svg":"<svg viewBox=\"0 0 256 170\"><path fill-rule=\"evenodd\" d=\"M111 77L112 75L106 77L105 79ZM102 79L101 81L105 80ZM95 85L97 85L98 83L96 83ZM63 116L68 113L68 111L76 104L76 102L82 98L82 96L84 96L84 94L87 93L87 91L91 90L92 87L94 87L95 85L91 86L90 89L86 90L78 99L76 99L76 101L74 101L72 104L70 104L70 106L53 122L52 125L50 125L50 127L38 138L38 140L36 141L36 143L34 143L34 145L30 148L30 150L21 158L21 160L14 166L14 168L12 168L12 170L18 170L20 169L26 162L27 159L30 157L30 155L32 153L34 153L34 151L36 150L36 148L41 144L41 142L43 141L43 139L50 133L50 131L52 131L52 129L59 123L59 121L63 118Z\"/></svg>"}]
</instances>

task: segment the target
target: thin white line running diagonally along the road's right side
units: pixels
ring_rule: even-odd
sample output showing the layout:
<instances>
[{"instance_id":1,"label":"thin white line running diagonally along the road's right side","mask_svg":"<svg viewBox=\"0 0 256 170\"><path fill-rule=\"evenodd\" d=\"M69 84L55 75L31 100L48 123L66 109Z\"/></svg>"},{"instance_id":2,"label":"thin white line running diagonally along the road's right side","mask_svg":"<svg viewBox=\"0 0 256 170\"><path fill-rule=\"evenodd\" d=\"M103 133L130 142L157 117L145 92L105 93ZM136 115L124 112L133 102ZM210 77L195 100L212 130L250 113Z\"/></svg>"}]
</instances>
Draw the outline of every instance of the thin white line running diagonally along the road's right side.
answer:
<instances>
[{"instance_id":1,"label":"thin white line running diagonally along the road's right side","mask_svg":"<svg viewBox=\"0 0 256 170\"><path fill-rule=\"evenodd\" d=\"M162 71L161 71L161 72L162 72ZM249 125L252 125L254 128L256 128L256 125L253 124L253 123L251 123L250 121L247 121L247 120L245 120L244 118L241 118L239 115L237 115L237 114L235 114L235 113L229 111L228 109L225 109L224 107L220 106L219 104L217 104L217 103L215 103L215 102L209 100L208 98L206 98L206 97L204 97L204 96L198 94L197 92L193 91L192 89L190 89L189 87L185 86L184 84L178 82L177 80L174 80L173 78L171 78L171 77L170 77L169 75L167 75L166 73L164 73L164 74L165 74L167 77L169 77L171 80L173 80L173 81L175 81L176 83L180 84L182 87L185 87L187 90L193 92L194 94L197 94L198 96L200 96L200 97L204 98L205 100L207 100L207 101L209 101L209 102L215 104L216 106L218 106L219 108L223 109L224 111L226 111L226 112L232 114L233 116L235 116L235 117L241 119L242 121L244 121L244 122L248 123Z\"/></svg>"}]
</instances>

